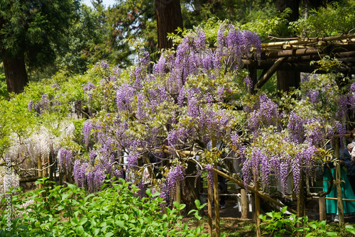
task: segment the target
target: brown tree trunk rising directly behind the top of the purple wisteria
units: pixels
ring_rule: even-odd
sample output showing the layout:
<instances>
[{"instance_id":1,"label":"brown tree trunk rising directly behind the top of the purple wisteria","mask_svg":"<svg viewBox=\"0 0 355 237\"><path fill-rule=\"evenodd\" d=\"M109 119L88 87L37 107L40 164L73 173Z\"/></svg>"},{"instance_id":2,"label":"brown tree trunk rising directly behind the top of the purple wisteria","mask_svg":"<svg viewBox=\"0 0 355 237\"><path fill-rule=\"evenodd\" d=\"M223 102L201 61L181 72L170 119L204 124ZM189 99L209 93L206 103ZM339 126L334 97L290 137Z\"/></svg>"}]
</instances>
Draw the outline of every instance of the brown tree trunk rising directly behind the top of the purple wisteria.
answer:
<instances>
[{"instance_id":1,"label":"brown tree trunk rising directly behind the top of the purple wisteria","mask_svg":"<svg viewBox=\"0 0 355 237\"><path fill-rule=\"evenodd\" d=\"M182 25L182 14L179 0L155 0L155 15L158 28L159 49L172 48L173 42L168 40L168 33Z\"/></svg>"}]
</instances>

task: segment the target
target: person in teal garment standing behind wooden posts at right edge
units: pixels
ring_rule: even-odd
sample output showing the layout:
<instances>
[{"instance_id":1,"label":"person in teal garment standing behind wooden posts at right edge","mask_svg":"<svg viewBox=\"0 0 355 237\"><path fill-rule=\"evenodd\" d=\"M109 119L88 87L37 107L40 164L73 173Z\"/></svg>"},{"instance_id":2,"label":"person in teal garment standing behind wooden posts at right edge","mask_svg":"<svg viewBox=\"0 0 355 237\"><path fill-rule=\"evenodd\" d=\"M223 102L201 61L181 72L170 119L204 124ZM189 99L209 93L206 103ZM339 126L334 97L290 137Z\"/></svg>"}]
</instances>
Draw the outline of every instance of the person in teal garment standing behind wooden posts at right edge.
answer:
<instances>
[{"instance_id":1,"label":"person in teal garment standing behind wooden posts at right edge","mask_svg":"<svg viewBox=\"0 0 355 237\"><path fill-rule=\"evenodd\" d=\"M327 148L329 150L332 150L334 152L334 147L327 145ZM336 158L333 155L332 160L335 160ZM343 167L350 167L351 161L350 161L350 153L347 148L339 148L339 162L341 165L341 177L344 182L342 182L342 194L343 194L343 199L355 199L355 195L353 192L353 189L351 189L351 184L346 177L346 173L343 169ZM333 165L333 162L330 161L329 163L330 170L332 172L332 175L334 177L334 180L336 179L336 171L335 167ZM330 175L327 170L324 171L323 175L323 191L327 192L328 187L329 187L329 180L330 180ZM333 184L332 191L327 195L327 197L337 197L337 185ZM332 199L326 199L327 203L327 213L332 214L332 221L339 221L338 217L338 203L337 200L332 200ZM344 204L344 214L347 213L354 213L355 212L355 202L349 202L349 201L343 201Z\"/></svg>"}]
</instances>

